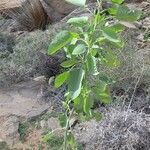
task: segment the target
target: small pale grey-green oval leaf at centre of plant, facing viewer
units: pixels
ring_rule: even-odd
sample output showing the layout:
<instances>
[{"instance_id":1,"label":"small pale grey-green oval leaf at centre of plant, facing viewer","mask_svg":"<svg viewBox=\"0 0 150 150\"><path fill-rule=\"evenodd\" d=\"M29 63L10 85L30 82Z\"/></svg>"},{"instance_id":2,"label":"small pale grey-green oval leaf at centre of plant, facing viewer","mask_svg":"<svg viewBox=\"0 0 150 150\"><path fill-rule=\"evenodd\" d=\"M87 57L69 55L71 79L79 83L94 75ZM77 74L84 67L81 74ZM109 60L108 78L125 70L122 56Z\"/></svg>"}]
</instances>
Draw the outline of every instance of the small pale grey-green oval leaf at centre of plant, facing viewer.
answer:
<instances>
[{"instance_id":1,"label":"small pale grey-green oval leaf at centre of plant, facing viewer","mask_svg":"<svg viewBox=\"0 0 150 150\"><path fill-rule=\"evenodd\" d=\"M86 51L86 46L84 44L79 44L74 48L72 55L80 55Z\"/></svg>"}]
</instances>

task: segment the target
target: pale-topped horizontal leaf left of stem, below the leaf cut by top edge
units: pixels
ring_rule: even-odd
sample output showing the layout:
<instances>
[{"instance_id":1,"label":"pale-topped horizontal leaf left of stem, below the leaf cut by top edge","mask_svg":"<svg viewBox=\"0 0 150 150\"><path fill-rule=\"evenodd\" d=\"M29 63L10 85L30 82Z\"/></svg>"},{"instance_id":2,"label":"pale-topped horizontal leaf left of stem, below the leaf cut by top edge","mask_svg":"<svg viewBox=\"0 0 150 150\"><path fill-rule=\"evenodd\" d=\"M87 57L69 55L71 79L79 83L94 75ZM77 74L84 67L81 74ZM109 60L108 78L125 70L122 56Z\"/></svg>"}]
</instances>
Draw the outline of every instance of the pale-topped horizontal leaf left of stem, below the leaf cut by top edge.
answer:
<instances>
[{"instance_id":1,"label":"pale-topped horizontal leaf left of stem, below the leaf cut by top edge","mask_svg":"<svg viewBox=\"0 0 150 150\"><path fill-rule=\"evenodd\" d=\"M88 23L88 17L75 17L67 21L68 24L72 24L77 27L83 27Z\"/></svg>"}]
</instances>

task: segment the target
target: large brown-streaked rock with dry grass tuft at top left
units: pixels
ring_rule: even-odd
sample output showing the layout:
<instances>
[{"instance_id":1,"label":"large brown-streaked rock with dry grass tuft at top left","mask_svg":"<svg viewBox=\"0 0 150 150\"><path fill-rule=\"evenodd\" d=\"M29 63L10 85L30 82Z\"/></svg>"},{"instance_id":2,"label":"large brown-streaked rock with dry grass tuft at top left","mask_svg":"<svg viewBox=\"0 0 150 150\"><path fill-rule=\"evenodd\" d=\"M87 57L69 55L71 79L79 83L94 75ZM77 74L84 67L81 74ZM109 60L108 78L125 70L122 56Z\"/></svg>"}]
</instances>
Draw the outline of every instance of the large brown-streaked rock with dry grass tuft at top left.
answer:
<instances>
[{"instance_id":1,"label":"large brown-streaked rock with dry grass tuft at top left","mask_svg":"<svg viewBox=\"0 0 150 150\"><path fill-rule=\"evenodd\" d=\"M87 2L95 1L88 0ZM18 23L13 25L15 29L12 31L45 29L48 22L61 20L75 8L76 6L65 0L15 0L13 2L2 0L0 2L0 12Z\"/></svg>"}]
</instances>

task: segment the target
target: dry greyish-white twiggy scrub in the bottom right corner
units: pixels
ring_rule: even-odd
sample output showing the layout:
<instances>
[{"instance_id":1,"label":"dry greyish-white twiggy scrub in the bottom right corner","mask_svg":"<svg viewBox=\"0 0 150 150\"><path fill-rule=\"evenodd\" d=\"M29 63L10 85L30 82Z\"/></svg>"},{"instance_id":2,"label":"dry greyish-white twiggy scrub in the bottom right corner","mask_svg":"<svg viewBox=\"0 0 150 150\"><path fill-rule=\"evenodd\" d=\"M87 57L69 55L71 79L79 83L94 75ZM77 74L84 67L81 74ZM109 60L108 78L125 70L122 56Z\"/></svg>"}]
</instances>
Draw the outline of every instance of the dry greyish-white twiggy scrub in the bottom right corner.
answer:
<instances>
[{"instance_id":1,"label":"dry greyish-white twiggy scrub in the bottom right corner","mask_svg":"<svg viewBox=\"0 0 150 150\"><path fill-rule=\"evenodd\" d=\"M85 150L149 150L150 115L107 108L102 121L80 124L75 134Z\"/></svg>"}]
</instances>

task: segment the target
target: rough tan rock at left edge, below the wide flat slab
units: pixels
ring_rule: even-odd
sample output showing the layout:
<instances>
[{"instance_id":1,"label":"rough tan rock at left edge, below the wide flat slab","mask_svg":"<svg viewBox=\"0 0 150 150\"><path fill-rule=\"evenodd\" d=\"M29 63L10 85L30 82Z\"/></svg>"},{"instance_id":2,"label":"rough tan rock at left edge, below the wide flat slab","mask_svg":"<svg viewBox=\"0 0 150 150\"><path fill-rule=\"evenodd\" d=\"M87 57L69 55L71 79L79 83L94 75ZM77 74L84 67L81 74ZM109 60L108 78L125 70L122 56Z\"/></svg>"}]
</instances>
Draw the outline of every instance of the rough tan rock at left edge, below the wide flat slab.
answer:
<instances>
[{"instance_id":1,"label":"rough tan rock at left edge, below the wide flat slab","mask_svg":"<svg viewBox=\"0 0 150 150\"><path fill-rule=\"evenodd\" d=\"M10 146L18 142L18 127L19 119L15 116L5 117L0 120L0 141L6 141Z\"/></svg>"}]
</instances>

